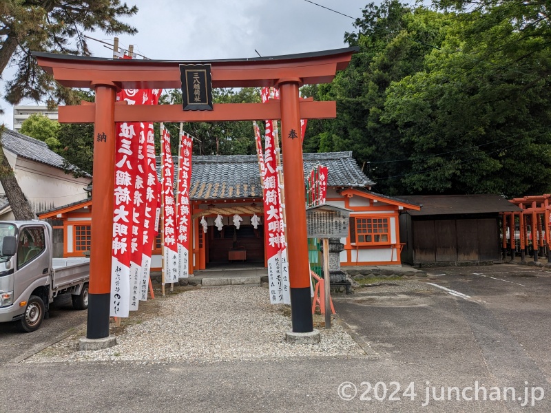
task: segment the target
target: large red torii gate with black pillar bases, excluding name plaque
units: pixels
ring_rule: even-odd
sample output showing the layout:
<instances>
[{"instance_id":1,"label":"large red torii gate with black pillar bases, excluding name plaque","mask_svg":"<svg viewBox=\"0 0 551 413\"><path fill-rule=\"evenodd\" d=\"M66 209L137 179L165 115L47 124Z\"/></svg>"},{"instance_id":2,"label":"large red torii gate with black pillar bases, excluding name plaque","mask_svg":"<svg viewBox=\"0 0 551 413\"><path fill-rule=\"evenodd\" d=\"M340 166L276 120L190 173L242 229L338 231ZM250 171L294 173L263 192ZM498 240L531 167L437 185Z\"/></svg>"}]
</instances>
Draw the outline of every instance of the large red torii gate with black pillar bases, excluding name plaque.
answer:
<instances>
[{"instance_id":1,"label":"large red torii gate with black pillar bases, excluding name plaque","mask_svg":"<svg viewBox=\"0 0 551 413\"><path fill-rule=\"evenodd\" d=\"M95 103L60 106L61 123L94 123L94 192L90 248L90 306L87 339L109 337L111 244L116 122L215 122L280 119L282 123L284 188L291 320L293 332L313 331L310 273L306 240L306 209L302 143L293 138L300 119L335 118L335 102L300 101L303 84L329 83L337 70L349 65L357 47L324 52L218 61L157 61L103 59L33 52L39 65L65 87L94 89ZM270 87L280 89L280 100L270 103L214 104L212 111L187 111L181 105L124 105L115 101L117 89L179 89L180 64L210 64L212 87ZM293 136L293 137L291 137ZM291 177L291 178L289 178ZM296 177L296 178L292 178Z\"/></svg>"}]
</instances>

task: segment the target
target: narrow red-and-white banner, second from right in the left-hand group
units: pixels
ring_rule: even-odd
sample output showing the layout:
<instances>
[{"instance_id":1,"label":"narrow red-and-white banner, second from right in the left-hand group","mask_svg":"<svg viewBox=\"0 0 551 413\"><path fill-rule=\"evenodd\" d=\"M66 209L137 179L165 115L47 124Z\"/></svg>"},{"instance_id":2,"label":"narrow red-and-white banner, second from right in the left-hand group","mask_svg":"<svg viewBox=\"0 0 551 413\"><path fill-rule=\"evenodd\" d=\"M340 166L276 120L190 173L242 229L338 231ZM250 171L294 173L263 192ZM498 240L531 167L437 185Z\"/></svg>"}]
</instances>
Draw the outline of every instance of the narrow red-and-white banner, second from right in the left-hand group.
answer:
<instances>
[{"instance_id":1,"label":"narrow red-and-white banner, second from right in the left-hand group","mask_svg":"<svg viewBox=\"0 0 551 413\"><path fill-rule=\"evenodd\" d=\"M178 245L176 244L176 202L174 202L174 162L170 134L160 124L161 167L163 168L163 245L165 247L165 284L178 282Z\"/></svg>"}]
</instances>

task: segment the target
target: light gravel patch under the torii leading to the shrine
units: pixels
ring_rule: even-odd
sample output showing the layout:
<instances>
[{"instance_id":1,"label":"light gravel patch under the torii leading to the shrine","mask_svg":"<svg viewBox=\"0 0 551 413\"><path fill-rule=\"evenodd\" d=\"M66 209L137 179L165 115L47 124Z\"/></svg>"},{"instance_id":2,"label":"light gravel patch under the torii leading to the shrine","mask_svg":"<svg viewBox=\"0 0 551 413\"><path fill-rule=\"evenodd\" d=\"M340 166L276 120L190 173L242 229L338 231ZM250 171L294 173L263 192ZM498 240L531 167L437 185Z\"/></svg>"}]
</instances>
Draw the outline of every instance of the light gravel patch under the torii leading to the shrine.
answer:
<instances>
[{"instance_id":1,"label":"light gravel patch under the torii leading to the shrine","mask_svg":"<svg viewBox=\"0 0 551 413\"><path fill-rule=\"evenodd\" d=\"M27 362L230 361L287 357L366 357L338 322L320 328L321 343L292 345L289 306L271 305L266 288L223 286L185 290L149 300L114 332L117 345L79 351L83 330L45 348ZM134 317L134 321L132 320ZM320 318L322 319L322 318ZM115 330L113 330L115 331ZM112 333L113 334L113 333Z\"/></svg>"}]
</instances>

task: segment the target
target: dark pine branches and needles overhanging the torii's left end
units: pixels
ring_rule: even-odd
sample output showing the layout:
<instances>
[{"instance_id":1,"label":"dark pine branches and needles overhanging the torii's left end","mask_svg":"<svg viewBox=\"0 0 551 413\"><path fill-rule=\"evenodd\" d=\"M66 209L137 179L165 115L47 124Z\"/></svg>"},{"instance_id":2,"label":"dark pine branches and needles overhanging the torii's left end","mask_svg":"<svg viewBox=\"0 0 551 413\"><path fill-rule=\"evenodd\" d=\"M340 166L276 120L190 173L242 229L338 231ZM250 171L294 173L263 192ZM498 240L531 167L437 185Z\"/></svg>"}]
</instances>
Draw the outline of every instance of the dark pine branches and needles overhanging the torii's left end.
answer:
<instances>
[{"instance_id":1,"label":"dark pine branches and needles overhanging the torii's left end","mask_svg":"<svg viewBox=\"0 0 551 413\"><path fill-rule=\"evenodd\" d=\"M70 89L54 83L30 56L31 51L90 56L83 32L106 34L137 32L119 19L136 14L120 0L6 0L0 1L0 75L9 65L18 67L6 83L6 100L22 98L74 102Z\"/></svg>"}]
</instances>

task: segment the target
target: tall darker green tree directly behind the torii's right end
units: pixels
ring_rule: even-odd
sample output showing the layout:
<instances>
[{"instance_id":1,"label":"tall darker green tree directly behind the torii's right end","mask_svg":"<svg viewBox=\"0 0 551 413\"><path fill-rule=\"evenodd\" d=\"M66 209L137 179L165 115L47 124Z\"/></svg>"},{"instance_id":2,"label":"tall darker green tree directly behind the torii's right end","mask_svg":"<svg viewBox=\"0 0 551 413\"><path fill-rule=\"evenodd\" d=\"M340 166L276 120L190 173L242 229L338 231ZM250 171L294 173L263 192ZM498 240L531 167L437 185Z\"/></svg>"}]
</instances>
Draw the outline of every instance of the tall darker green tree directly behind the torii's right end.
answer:
<instances>
[{"instance_id":1,"label":"tall darker green tree directly behind the torii's right end","mask_svg":"<svg viewBox=\"0 0 551 413\"><path fill-rule=\"evenodd\" d=\"M386 89L393 81L422 70L430 45L441 42L445 24L436 12L412 10L397 0L380 6L370 3L346 33L351 46L359 46L346 70L333 83L304 88L315 100L336 100L337 118L314 120L306 131L304 147L319 151L353 151L364 172L388 195L404 193L402 181L393 176L403 165L389 160L408 156L397 125L383 122Z\"/></svg>"}]
</instances>

